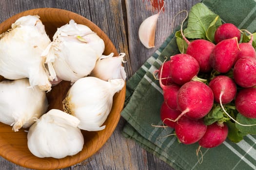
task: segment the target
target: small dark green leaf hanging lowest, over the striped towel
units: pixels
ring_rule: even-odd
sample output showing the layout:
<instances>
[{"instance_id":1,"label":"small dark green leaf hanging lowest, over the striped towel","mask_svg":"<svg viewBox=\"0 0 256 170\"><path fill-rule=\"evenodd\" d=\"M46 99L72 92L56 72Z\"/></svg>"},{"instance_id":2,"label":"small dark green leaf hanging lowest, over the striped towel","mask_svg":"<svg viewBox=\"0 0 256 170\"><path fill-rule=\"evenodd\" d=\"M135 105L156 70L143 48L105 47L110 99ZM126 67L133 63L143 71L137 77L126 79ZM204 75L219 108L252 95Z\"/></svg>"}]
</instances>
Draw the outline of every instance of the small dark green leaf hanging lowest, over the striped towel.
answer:
<instances>
[{"instance_id":1,"label":"small dark green leaf hanging lowest, over the striped towel","mask_svg":"<svg viewBox=\"0 0 256 170\"><path fill-rule=\"evenodd\" d=\"M230 120L226 122L228 125L228 138L232 142L239 142L243 139L238 129L236 129L235 123L231 122Z\"/></svg>"}]
</instances>

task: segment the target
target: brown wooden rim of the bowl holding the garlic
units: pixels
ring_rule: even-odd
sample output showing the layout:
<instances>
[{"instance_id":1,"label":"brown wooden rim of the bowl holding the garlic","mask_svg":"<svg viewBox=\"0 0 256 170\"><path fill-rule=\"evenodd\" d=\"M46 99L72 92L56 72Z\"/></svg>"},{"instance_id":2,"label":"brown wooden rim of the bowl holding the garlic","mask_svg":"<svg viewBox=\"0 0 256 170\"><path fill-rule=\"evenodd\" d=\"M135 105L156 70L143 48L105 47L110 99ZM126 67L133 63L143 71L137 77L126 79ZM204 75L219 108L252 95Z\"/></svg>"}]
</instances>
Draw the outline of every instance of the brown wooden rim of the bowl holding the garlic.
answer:
<instances>
[{"instance_id":1,"label":"brown wooden rim of the bowl holding the garlic","mask_svg":"<svg viewBox=\"0 0 256 170\"><path fill-rule=\"evenodd\" d=\"M26 11L20 12L20 13L18 13L16 15L12 16L12 17L7 18L3 22L1 22L0 23L0 31L2 31L2 33L7 31L8 28L10 28L10 24L14 23L19 17L27 16L27 15L38 15L40 17L40 15L45 14L45 13L50 12L50 11L51 11L51 13L66 14L68 17L70 17L70 19L74 19L74 18L71 18L71 17L78 17L80 19L80 21L77 22L75 20L78 24L79 23L90 23L90 25L92 27L90 27L90 26L89 27L94 32L96 32L98 34L98 36L100 36L103 39L104 42L106 42L106 41L108 42L107 44L105 43L105 49L111 48L111 50L115 54L118 54L117 49L115 48L113 42L109 39L109 37L96 24L94 24L92 21L90 21L86 17L83 17L83 16L81 16L81 15L79 15L77 13L74 13L74 12L68 11L68 10L64 10L64 9L59 9L59 8L35 8L35 9L30 9L30 10L26 10ZM9 27L7 27L8 25L9 25ZM115 56L117 56L117 55L115 55ZM121 91L119 91L118 93L116 93L114 95L113 106L114 106L114 101L116 99L118 99L118 101L121 101L122 104L121 105L115 105L115 106L117 106L115 111L118 112L118 114L115 116L115 121L113 123L111 123L112 127L108 128L108 132L109 133L104 135L105 136L103 138L104 141L101 141L100 143L98 143L98 145L97 145L98 147L95 148L95 152L94 153L87 154L85 156L79 156L76 160L72 160L72 158L70 158L68 161L65 161L65 160L62 161L62 159L64 159L64 158L56 159L56 160L55 160L55 158L50 158L50 159L48 159L48 158L38 158L38 159L47 159L47 161L45 161L46 164L49 164L51 160L55 160L55 163L51 164L50 167L47 166L47 165L39 164L39 163L31 164L31 163L26 162L26 160L18 161L17 159L14 159L13 157L9 157L8 156L8 152L6 152L6 151L2 152L2 150L4 150L5 147L6 147L5 145L4 146L0 146L0 155L3 158L5 158L6 160L8 160L10 162L13 162L13 163L15 163L17 165L20 165L22 167L30 168L30 169L38 169L38 170L40 170L40 169L41 170L62 169L62 168L70 167L72 165L75 165L77 163L82 162L83 160L91 157L93 154L98 152L98 150L106 143L106 141L110 138L110 136L112 136L114 130L116 129L116 127L118 125L118 121L120 119L120 112L121 112L121 110L123 108L123 105L124 105L125 90L126 90L126 84L124 85L124 87L122 88ZM113 106L112 106L112 108L113 108ZM112 109L111 109L110 114L113 114L112 113ZM17 132L15 132L15 133L17 133ZM84 150L84 148L83 148L83 150ZM70 157L70 156L68 156L68 157Z\"/></svg>"}]
</instances>

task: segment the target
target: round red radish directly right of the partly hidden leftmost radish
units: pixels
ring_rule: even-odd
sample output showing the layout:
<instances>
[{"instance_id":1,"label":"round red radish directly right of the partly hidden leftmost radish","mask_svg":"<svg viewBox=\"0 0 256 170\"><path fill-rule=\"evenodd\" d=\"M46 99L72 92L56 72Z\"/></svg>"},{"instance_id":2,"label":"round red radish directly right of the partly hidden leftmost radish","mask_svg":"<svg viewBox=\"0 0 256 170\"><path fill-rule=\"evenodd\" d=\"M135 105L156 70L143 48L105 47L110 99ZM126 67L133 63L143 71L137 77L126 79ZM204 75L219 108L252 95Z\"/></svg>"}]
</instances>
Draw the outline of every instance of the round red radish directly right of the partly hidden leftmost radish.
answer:
<instances>
[{"instance_id":1,"label":"round red radish directly right of the partly hidden leftmost radish","mask_svg":"<svg viewBox=\"0 0 256 170\"><path fill-rule=\"evenodd\" d=\"M183 85L199 72L197 60L188 54L176 54L171 57L170 72L172 81L177 85Z\"/></svg>"}]
</instances>

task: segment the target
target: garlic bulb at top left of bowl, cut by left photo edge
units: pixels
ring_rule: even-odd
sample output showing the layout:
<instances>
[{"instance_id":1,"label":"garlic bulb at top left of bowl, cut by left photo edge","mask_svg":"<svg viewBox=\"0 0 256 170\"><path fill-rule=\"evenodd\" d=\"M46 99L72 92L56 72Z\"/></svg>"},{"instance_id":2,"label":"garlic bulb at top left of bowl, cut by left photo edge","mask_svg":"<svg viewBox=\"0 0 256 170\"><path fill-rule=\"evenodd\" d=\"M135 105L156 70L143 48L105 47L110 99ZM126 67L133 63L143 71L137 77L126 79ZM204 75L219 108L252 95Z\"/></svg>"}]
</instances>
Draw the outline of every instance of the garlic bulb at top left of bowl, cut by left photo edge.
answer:
<instances>
[{"instance_id":1,"label":"garlic bulb at top left of bowl, cut by left photo edge","mask_svg":"<svg viewBox=\"0 0 256 170\"><path fill-rule=\"evenodd\" d=\"M24 16L12 24L12 29L0 35L0 75L6 79L29 78L33 87L51 90L44 68L42 51L51 40L38 16Z\"/></svg>"}]
</instances>

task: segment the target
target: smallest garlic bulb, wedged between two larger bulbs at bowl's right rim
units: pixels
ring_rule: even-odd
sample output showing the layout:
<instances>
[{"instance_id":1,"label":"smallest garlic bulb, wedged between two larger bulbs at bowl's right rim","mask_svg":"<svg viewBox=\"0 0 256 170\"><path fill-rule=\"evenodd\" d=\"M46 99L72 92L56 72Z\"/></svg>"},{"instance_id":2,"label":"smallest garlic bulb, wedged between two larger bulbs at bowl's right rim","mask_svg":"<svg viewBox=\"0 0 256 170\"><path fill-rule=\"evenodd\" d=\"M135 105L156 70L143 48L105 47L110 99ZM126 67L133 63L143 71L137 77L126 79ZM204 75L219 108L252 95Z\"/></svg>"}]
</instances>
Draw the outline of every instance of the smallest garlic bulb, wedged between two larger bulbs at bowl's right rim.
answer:
<instances>
[{"instance_id":1,"label":"smallest garlic bulb, wedged between two larger bulbs at bowl's right rim","mask_svg":"<svg viewBox=\"0 0 256 170\"><path fill-rule=\"evenodd\" d=\"M120 53L119 56L113 57L114 53L102 58L96 62L96 66L91 72L91 76L98 77L101 80L108 81L109 79L126 79L126 73L122 63L124 63L125 53Z\"/></svg>"}]
</instances>

